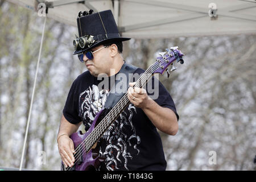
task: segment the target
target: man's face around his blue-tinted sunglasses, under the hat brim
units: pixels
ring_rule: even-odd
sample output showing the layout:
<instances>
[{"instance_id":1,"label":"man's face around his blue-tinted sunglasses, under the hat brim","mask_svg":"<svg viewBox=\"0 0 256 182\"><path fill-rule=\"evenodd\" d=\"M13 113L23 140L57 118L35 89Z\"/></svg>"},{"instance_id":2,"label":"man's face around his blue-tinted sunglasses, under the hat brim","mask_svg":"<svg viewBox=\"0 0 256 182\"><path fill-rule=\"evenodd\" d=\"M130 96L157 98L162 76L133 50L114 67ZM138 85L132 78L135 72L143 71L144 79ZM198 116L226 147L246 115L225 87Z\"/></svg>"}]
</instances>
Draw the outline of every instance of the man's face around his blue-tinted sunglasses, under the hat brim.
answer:
<instances>
[{"instance_id":1,"label":"man's face around his blue-tinted sunglasses, under the hat brim","mask_svg":"<svg viewBox=\"0 0 256 182\"><path fill-rule=\"evenodd\" d=\"M93 53L93 59L89 60L84 53L84 63L90 72L91 75L97 77L100 73L106 73L109 75L110 68L111 68L111 57L110 57L110 50L108 47L103 48L104 46L97 46L92 48L90 51ZM102 48L102 49L100 49ZM100 49L100 50L98 50ZM98 50L98 51L97 51Z\"/></svg>"}]
</instances>

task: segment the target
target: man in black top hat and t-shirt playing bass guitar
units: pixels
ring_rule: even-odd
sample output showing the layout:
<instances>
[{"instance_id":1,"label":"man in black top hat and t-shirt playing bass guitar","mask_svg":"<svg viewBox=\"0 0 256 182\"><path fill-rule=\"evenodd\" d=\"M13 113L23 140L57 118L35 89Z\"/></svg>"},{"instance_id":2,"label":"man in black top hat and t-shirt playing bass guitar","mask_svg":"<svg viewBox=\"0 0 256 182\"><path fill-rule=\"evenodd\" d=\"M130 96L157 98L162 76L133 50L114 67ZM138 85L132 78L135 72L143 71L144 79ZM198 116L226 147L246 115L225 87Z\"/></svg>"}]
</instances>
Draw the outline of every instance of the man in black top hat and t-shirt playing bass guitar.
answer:
<instances>
[{"instance_id":1,"label":"man in black top hat and t-shirt playing bass guitar","mask_svg":"<svg viewBox=\"0 0 256 182\"><path fill-rule=\"evenodd\" d=\"M80 12L77 27L79 37L76 36L73 42L73 54L79 56L88 71L73 81L63 109L57 135L63 169L166 170L162 141L156 129L169 135L177 133L179 115L172 97L154 76L150 82L157 93L149 93L147 88L139 86L138 79L133 78L129 81L122 100L112 105L115 106L113 109L119 109L116 117L108 118L106 115L105 120L98 124L95 121L100 118L97 114L106 106L118 74L125 70L122 68L133 68L133 75L142 75L145 71L123 60L122 42L130 38L119 35L110 10ZM102 84L102 79L99 79L101 75L105 75L103 78L108 83L104 84L104 88L98 86ZM156 94L157 97L151 98L151 95ZM91 135L97 134L96 125L100 129L105 126L101 124L105 121L111 122L102 134L98 134L100 138L95 138L96 146L90 140L93 139ZM76 133L81 123L85 126L85 131L91 133L82 143L76 144L76 138L82 134L77 134L73 139L71 135ZM92 151L92 148L97 150ZM84 156L89 152L92 156ZM95 161L89 162L89 158ZM83 163L87 163L86 166Z\"/></svg>"}]
</instances>

